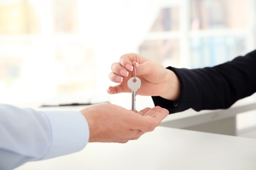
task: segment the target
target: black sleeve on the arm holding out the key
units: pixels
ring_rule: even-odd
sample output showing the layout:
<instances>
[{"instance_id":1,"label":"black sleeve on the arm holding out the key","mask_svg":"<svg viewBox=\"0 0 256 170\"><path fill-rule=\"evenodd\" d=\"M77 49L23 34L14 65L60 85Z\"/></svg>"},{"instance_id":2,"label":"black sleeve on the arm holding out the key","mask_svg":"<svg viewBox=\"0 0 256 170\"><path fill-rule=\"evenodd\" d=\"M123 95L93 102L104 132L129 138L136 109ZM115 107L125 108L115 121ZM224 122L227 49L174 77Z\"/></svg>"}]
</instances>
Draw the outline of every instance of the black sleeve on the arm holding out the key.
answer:
<instances>
[{"instance_id":1,"label":"black sleeve on the arm holding out the key","mask_svg":"<svg viewBox=\"0 0 256 170\"><path fill-rule=\"evenodd\" d=\"M152 96L155 105L170 113L186 109L227 109L239 99L256 92L256 50L215 67L177 69L181 95L177 101Z\"/></svg>"}]
</instances>

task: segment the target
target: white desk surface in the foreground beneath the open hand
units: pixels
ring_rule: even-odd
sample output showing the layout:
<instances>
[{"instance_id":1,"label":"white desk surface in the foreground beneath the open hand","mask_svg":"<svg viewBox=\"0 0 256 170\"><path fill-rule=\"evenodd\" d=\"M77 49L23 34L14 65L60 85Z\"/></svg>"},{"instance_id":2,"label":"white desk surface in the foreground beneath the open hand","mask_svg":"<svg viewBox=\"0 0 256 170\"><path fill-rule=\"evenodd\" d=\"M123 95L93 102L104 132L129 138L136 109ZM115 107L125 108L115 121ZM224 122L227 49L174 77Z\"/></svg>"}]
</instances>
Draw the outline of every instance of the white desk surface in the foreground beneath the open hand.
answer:
<instances>
[{"instance_id":1,"label":"white desk surface in the foreground beneath the open hand","mask_svg":"<svg viewBox=\"0 0 256 170\"><path fill-rule=\"evenodd\" d=\"M30 169L256 169L256 139L157 127L137 141L89 143L81 152L16 170Z\"/></svg>"}]
</instances>

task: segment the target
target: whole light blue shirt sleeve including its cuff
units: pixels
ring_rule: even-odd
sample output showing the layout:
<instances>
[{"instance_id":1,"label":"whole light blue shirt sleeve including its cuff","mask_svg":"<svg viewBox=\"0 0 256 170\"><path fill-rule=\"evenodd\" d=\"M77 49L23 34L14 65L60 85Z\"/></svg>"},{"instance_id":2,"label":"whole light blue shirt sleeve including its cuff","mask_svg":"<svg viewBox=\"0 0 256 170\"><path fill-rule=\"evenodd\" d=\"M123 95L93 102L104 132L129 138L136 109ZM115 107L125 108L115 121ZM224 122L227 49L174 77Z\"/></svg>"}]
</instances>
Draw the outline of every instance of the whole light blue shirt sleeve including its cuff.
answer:
<instances>
[{"instance_id":1,"label":"whole light blue shirt sleeve including its cuff","mask_svg":"<svg viewBox=\"0 0 256 170\"><path fill-rule=\"evenodd\" d=\"M89 126L78 111L36 111L0 105L0 169L82 150Z\"/></svg>"}]
</instances>

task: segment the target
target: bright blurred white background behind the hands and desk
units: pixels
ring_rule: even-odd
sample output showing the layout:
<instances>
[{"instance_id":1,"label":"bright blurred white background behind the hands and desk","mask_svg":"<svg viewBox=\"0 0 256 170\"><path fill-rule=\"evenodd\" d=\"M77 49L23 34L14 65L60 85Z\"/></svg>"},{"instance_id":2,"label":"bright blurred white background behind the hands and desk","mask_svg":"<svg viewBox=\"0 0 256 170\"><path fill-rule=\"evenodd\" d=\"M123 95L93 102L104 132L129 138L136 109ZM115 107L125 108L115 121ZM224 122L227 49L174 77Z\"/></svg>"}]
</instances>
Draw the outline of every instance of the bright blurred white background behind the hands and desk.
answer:
<instances>
[{"instance_id":1,"label":"bright blurred white background behind the hands and desk","mask_svg":"<svg viewBox=\"0 0 256 170\"><path fill-rule=\"evenodd\" d=\"M0 0L0 102L96 95L129 109L131 94L106 93L114 85L111 64L121 55L135 52L173 67L223 63L255 49L255 4ZM150 97L138 100L137 109L152 105Z\"/></svg>"}]
</instances>

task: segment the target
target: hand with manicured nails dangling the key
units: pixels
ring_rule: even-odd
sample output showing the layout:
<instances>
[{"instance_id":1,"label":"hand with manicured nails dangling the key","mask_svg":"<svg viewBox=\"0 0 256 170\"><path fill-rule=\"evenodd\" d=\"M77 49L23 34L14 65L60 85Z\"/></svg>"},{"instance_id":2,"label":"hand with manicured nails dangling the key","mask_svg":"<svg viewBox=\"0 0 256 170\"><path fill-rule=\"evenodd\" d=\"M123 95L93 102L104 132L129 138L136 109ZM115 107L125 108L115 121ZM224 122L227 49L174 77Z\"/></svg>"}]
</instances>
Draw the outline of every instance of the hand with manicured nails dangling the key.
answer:
<instances>
[{"instance_id":1,"label":"hand with manicured nails dangling the key","mask_svg":"<svg viewBox=\"0 0 256 170\"><path fill-rule=\"evenodd\" d=\"M175 73L139 54L121 56L119 62L112 64L111 69L110 80L119 84L108 88L110 94L131 92L127 87L127 80L135 76L132 74L135 74L136 69L136 75L141 80L141 86L137 90L139 95L161 96L172 101L179 98L180 82Z\"/></svg>"}]
</instances>

